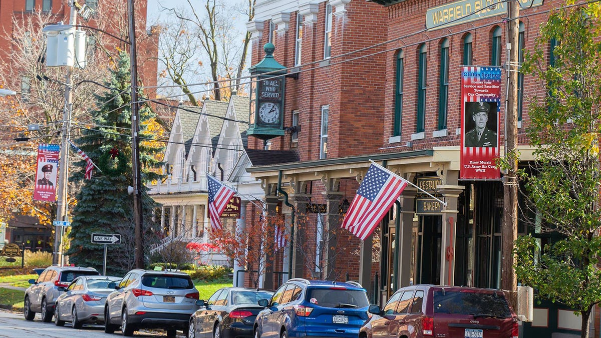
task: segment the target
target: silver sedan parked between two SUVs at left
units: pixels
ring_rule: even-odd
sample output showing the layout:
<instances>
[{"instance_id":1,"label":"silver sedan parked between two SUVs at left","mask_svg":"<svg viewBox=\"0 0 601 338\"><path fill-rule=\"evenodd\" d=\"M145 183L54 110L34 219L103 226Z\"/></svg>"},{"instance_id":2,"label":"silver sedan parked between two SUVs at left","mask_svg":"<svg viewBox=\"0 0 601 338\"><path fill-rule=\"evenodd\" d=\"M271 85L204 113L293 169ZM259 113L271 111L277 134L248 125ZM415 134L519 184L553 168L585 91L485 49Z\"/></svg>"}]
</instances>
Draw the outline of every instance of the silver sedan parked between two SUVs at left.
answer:
<instances>
[{"instance_id":1,"label":"silver sedan parked between two SUVs at left","mask_svg":"<svg viewBox=\"0 0 601 338\"><path fill-rule=\"evenodd\" d=\"M106 296L115 289L109 283L121 278L112 276L80 276L58 296L54 307L54 324L63 326L71 322L73 328L81 328L85 323L98 324L105 321Z\"/></svg>"}]
</instances>

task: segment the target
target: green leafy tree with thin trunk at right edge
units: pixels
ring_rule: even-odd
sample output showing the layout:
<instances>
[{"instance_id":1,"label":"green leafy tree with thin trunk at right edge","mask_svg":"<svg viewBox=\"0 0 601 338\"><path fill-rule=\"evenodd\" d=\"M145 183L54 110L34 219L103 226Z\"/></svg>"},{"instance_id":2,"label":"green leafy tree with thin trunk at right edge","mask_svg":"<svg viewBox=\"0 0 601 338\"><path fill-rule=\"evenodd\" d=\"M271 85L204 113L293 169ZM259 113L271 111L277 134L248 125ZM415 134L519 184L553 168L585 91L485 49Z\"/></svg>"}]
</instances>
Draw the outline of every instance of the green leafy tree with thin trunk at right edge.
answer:
<instances>
[{"instance_id":1,"label":"green leafy tree with thin trunk at right edge","mask_svg":"<svg viewBox=\"0 0 601 338\"><path fill-rule=\"evenodd\" d=\"M520 170L525 221L540 238L520 236L516 275L538 297L566 304L582 318L582 337L601 301L601 172L599 163L601 40L599 8L554 11L540 28L523 72L539 80L529 106L535 161ZM515 159L515 157L514 157Z\"/></svg>"}]
</instances>

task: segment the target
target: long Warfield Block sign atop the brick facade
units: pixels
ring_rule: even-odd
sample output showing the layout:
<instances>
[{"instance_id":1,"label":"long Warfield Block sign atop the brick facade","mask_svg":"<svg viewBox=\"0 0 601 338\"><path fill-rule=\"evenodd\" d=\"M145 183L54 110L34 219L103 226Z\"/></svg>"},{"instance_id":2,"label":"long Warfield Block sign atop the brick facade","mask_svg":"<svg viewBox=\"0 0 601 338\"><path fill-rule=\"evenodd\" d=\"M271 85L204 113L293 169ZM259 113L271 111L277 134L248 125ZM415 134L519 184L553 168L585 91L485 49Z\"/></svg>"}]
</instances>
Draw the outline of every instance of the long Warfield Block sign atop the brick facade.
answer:
<instances>
[{"instance_id":1,"label":"long Warfield Block sign atop the brick facade","mask_svg":"<svg viewBox=\"0 0 601 338\"><path fill-rule=\"evenodd\" d=\"M543 0L518 0L521 8L538 7ZM507 0L461 0L426 11L426 29L435 30L507 14Z\"/></svg>"}]
</instances>

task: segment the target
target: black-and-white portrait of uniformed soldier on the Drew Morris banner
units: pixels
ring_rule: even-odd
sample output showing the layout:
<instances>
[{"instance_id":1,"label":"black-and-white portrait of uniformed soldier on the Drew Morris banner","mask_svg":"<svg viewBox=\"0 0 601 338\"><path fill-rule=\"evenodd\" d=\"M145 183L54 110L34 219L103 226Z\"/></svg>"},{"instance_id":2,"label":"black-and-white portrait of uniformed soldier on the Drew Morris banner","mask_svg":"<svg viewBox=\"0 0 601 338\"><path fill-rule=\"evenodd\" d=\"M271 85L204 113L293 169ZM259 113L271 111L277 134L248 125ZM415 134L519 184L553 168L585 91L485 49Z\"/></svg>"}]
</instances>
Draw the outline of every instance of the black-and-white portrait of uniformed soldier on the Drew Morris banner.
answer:
<instances>
[{"instance_id":1,"label":"black-and-white portrait of uniformed soldier on the Drew Morris banner","mask_svg":"<svg viewBox=\"0 0 601 338\"><path fill-rule=\"evenodd\" d=\"M497 146L497 102L466 102L466 148Z\"/></svg>"}]
</instances>

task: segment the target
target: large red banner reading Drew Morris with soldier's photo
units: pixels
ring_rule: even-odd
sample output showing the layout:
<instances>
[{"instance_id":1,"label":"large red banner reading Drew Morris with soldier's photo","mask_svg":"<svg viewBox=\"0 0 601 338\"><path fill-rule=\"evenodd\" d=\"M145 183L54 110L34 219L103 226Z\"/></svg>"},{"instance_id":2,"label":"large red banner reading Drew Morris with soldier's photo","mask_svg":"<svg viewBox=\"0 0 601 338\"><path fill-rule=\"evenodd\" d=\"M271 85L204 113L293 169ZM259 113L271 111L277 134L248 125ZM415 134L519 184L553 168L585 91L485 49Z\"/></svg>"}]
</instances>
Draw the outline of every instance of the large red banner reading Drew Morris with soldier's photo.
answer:
<instances>
[{"instance_id":1,"label":"large red banner reading Drew Morris with soldier's photo","mask_svg":"<svg viewBox=\"0 0 601 338\"><path fill-rule=\"evenodd\" d=\"M463 66L461 97L460 179L499 179L501 67Z\"/></svg>"}]
</instances>

